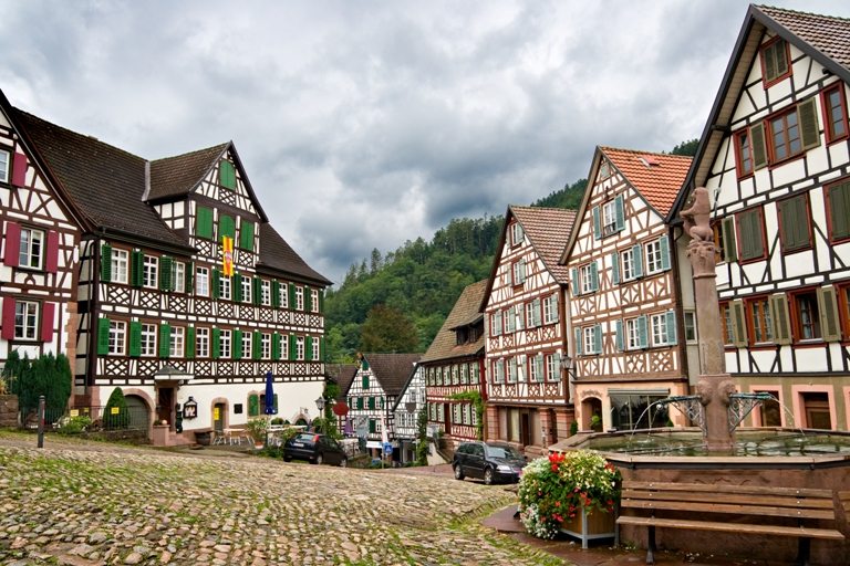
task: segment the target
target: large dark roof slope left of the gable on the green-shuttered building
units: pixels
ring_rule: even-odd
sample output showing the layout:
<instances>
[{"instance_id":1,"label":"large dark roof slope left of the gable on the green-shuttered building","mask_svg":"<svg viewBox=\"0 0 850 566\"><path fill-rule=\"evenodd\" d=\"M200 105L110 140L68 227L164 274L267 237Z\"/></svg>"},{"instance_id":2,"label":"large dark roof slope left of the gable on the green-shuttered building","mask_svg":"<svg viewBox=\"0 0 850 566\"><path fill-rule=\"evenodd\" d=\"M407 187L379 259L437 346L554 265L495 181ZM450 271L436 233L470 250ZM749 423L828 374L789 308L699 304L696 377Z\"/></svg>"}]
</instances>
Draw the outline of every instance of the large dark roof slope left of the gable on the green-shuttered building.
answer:
<instances>
[{"instance_id":1,"label":"large dark roof slope left of the gable on the green-shuttered building","mask_svg":"<svg viewBox=\"0 0 850 566\"><path fill-rule=\"evenodd\" d=\"M18 108L13 113L34 150L94 224L167 244L187 244L142 201L145 159Z\"/></svg>"}]
</instances>

